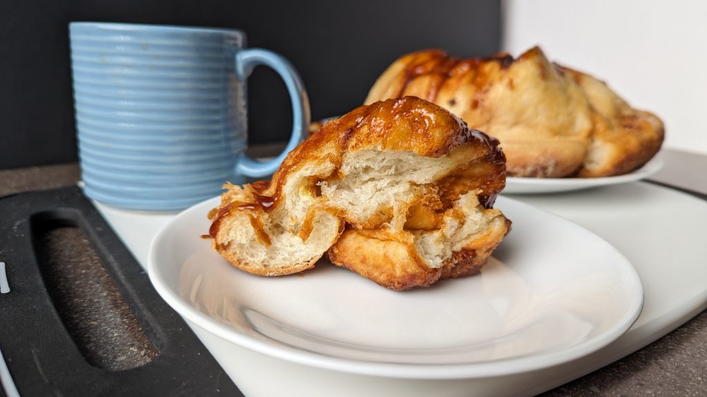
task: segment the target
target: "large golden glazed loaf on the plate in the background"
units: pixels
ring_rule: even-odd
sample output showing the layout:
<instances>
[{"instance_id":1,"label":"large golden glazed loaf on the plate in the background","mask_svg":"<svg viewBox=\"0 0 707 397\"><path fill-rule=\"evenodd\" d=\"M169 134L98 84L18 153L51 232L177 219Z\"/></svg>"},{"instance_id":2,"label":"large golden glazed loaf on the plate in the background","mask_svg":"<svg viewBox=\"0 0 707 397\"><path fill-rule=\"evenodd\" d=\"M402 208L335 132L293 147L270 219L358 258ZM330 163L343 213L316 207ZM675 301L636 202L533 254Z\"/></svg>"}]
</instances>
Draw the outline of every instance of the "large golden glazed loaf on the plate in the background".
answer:
<instances>
[{"instance_id":1,"label":"large golden glazed loaf on the plate in the background","mask_svg":"<svg viewBox=\"0 0 707 397\"><path fill-rule=\"evenodd\" d=\"M607 177L658 152L662 122L632 109L606 85L551 64L538 47L518 59L456 59L442 51L400 57L366 103L414 95L501 141L508 175Z\"/></svg>"}]
</instances>

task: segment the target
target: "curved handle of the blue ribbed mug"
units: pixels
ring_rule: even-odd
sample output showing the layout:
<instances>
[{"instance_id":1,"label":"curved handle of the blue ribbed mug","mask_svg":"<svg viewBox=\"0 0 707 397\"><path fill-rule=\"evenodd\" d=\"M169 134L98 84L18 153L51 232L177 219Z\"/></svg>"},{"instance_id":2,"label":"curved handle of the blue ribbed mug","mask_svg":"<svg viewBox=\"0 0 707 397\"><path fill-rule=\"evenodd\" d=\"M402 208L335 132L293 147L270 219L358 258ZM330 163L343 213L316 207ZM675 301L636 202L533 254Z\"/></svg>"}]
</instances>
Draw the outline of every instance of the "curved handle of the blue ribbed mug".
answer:
<instances>
[{"instance_id":1,"label":"curved handle of the blue ribbed mug","mask_svg":"<svg viewBox=\"0 0 707 397\"><path fill-rule=\"evenodd\" d=\"M241 81L250 76L255 66L265 65L276 71L284 80L292 102L292 135L285 149L272 160L259 161L243 153L235 165L235 172L246 177L266 177L273 174L285 160L287 153L300 143L303 132L310 124L310 105L300 75L292 64L281 55L267 49L240 49L235 53L235 76Z\"/></svg>"}]
</instances>

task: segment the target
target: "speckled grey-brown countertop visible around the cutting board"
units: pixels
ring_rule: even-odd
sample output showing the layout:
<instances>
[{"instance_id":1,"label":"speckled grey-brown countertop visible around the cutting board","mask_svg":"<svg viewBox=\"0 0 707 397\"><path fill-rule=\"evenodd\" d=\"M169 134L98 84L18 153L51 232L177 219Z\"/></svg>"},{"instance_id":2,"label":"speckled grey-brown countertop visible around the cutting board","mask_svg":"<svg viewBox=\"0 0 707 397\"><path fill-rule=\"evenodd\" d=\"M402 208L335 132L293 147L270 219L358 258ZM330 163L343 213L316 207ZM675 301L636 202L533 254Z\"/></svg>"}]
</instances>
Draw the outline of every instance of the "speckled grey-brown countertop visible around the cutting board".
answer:
<instances>
[{"instance_id":1,"label":"speckled grey-brown countertop visible around the cutting board","mask_svg":"<svg viewBox=\"0 0 707 397\"><path fill-rule=\"evenodd\" d=\"M273 153L277 146L249 150ZM663 150L650 179L707 198L707 155ZM76 184L76 164L0 171L0 196ZM542 396L707 396L707 311L645 348Z\"/></svg>"}]
</instances>

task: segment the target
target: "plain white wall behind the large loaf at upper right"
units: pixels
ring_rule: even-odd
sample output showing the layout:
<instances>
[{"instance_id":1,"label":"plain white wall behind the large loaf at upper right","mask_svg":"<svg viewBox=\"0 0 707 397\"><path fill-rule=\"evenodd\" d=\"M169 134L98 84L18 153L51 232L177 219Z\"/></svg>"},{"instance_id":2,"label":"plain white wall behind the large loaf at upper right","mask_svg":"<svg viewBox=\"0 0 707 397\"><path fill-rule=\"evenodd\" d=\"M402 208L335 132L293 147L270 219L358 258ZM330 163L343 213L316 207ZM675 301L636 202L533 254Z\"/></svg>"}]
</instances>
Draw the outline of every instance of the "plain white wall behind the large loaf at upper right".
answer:
<instances>
[{"instance_id":1,"label":"plain white wall behind the large loaf at upper right","mask_svg":"<svg viewBox=\"0 0 707 397\"><path fill-rule=\"evenodd\" d=\"M504 0L503 15L503 51L540 45L658 114L665 147L707 154L707 1Z\"/></svg>"}]
</instances>

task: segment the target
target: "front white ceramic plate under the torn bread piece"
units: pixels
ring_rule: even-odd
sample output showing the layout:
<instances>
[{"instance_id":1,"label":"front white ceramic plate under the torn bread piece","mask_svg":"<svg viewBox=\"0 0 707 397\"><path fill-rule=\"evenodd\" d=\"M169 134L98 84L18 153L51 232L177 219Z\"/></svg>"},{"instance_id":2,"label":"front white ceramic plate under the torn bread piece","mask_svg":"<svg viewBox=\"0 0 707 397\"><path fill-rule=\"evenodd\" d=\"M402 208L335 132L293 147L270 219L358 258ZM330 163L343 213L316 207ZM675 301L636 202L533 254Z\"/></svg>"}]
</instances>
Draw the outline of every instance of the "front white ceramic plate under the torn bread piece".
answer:
<instances>
[{"instance_id":1,"label":"front white ceramic plate under the torn bread piece","mask_svg":"<svg viewBox=\"0 0 707 397\"><path fill-rule=\"evenodd\" d=\"M510 198L496 206L513 230L481 275L404 292L324 260L299 275L243 273L199 238L217 203L189 208L154 239L153 285L207 331L303 365L417 379L526 372L602 348L643 304L636 271L610 244Z\"/></svg>"}]
</instances>

